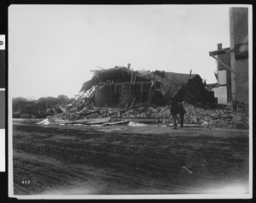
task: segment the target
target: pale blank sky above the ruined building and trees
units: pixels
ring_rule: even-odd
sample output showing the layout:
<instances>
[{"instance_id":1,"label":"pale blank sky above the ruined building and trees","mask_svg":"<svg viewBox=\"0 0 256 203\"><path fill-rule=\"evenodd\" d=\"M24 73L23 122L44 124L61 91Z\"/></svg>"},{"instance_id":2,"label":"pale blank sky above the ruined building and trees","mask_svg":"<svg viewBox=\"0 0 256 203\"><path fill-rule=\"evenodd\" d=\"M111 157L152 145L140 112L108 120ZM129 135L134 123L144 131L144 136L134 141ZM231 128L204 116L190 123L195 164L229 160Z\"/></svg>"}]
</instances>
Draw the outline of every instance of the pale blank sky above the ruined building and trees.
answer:
<instances>
[{"instance_id":1,"label":"pale blank sky above the ruined building and trees","mask_svg":"<svg viewBox=\"0 0 256 203\"><path fill-rule=\"evenodd\" d=\"M230 47L229 5L11 5L9 93L72 98L90 70L199 74L216 82L208 52Z\"/></svg>"}]
</instances>

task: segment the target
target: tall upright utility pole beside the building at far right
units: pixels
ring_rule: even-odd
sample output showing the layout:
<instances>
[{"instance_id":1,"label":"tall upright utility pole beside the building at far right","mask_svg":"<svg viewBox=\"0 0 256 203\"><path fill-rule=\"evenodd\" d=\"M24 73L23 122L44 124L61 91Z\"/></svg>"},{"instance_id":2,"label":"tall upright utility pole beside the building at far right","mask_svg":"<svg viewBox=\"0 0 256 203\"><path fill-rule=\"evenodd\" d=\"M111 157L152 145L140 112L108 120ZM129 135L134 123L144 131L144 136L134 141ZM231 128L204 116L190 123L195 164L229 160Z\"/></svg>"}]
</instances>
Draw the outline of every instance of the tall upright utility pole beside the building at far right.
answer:
<instances>
[{"instance_id":1,"label":"tall upright utility pole beside the building at far right","mask_svg":"<svg viewBox=\"0 0 256 203\"><path fill-rule=\"evenodd\" d=\"M234 37L234 16L233 8L230 8L230 68L231 70L231 93L233 105L233 121L237 123L236 109L236 55L235 55L235 37Z\"/></svg>"}]
</instances>

